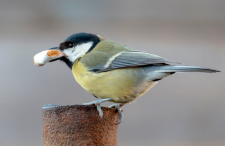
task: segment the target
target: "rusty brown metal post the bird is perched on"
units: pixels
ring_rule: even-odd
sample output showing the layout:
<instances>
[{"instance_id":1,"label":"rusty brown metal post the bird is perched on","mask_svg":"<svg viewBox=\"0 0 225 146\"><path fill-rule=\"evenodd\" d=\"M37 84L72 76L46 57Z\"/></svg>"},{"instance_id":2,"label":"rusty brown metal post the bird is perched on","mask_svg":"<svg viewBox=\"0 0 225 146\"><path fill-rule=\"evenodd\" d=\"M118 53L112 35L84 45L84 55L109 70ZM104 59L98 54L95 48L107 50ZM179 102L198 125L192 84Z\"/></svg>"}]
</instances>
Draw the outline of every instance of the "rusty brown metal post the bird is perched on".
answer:
<instances>
[{"instance_id":1,"label":"rusty brown metal post the bird is perched on","mask_svg":"<svg viewBox=\"0 0 225 146\"><path fill-rule=\"evenodd\" d=\"M94 105L45 105L44 146L116 146L118 112L102 107L100 121Z\"/></svg>"}]
</instances>

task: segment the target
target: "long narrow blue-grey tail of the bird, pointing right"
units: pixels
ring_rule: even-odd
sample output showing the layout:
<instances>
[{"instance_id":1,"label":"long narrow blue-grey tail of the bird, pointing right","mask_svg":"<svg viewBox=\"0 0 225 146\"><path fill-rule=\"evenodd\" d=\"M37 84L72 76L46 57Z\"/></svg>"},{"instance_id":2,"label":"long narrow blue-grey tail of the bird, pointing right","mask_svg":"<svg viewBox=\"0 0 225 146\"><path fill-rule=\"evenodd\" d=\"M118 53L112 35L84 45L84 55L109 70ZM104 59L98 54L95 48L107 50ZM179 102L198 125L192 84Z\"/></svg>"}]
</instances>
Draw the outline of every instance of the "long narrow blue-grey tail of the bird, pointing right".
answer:
<instances>
[{"instance_id":1,"label":"long narrow blue-grey tail of the bird, pointing right","mask_svg":"<svg viewBox=\"0 0 225 146\"><path fill-rule=\"evenodd\" d=\"M218 70L203 68L197 66L161 66L160 69L157 69L157 72L206 72L206 73L215 73L220 72Z\"/></svg>"}]
</instances>

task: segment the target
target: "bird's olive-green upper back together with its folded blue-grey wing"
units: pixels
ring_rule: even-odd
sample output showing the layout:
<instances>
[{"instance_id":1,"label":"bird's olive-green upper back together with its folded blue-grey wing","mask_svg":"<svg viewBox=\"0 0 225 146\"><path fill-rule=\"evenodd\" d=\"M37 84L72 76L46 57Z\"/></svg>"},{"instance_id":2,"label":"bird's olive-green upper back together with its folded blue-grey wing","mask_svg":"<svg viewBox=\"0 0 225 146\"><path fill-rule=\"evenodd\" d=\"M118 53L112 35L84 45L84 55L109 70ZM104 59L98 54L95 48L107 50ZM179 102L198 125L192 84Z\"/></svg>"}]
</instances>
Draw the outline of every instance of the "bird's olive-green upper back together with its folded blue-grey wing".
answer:
<instances>
[{"instance_id":1,"label":"bird's olive-green upper back together with its folded blue-grey wing","mask_svg":"<svg viewBox=\"0 0 225 146\"><path fill-rule=\"evenodd\" d=\"M107 72L120 68L134 68L149 65L169 65L176 63L163 57L134 50L115 42L103 42L98 50L85 55L81 59L89 70L94 72ZM104 48L104 49L102 49Z\"/></svg>"}]
</instances>

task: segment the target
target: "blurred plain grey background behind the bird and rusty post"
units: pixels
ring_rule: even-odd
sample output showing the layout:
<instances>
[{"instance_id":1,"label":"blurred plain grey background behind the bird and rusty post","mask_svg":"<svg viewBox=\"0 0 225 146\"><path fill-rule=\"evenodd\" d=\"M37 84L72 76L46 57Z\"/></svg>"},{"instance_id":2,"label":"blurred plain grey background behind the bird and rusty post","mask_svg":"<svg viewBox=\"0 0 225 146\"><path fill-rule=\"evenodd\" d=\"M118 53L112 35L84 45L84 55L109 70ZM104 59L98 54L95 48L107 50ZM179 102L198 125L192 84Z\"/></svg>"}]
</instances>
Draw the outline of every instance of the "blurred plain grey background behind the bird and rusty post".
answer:
<instances>
[{"instance_id":1,"label":"blurred plain grey background behind the bird and rusty post","mask_svg":"<svg viewBox=\"0 0 225 146\"><path fill-rule=\"evenodd\" d=\"M119 146L224 146L224 14L224 0L1 0L0 146L42 145L45 104L95 100L64 63L33 65L76 32L222 71L175 74L126 105Z\"/></svg>"}]
</instances>

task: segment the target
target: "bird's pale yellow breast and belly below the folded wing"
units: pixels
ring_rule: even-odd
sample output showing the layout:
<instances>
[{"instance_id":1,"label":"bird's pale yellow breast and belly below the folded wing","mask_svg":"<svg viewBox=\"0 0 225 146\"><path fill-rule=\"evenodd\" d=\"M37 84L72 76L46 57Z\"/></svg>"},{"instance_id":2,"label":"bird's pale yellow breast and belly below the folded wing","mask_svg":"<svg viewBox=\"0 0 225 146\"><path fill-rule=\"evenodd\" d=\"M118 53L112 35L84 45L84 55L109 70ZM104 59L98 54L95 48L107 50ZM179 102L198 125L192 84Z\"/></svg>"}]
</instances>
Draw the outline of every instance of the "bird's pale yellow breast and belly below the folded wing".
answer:
<instances>
[{"instance_id":1,"label":"bird's pale yellow breast and belly below the folded wing","mask_svg":"<svg viewBox=\"0 0 225 146\"><path fill-rule=\"evenodd\" d=\"M94 73L79 61L73 65L72 72L76 81L88 92L98 98L112 98L113 102L129 102L137 94L137 86L142 83L137 76L139 69L117 69L109 72Z\"/></svg>"}]
</instances>

